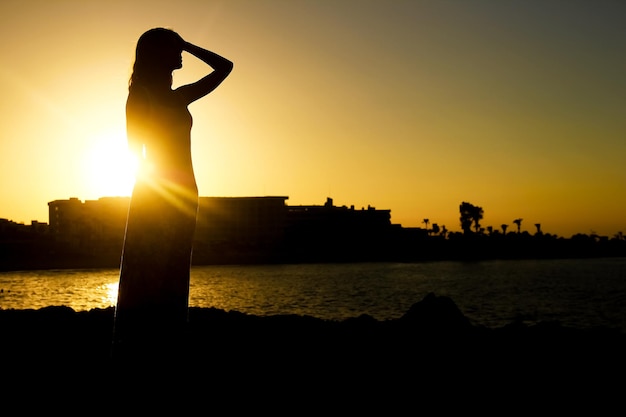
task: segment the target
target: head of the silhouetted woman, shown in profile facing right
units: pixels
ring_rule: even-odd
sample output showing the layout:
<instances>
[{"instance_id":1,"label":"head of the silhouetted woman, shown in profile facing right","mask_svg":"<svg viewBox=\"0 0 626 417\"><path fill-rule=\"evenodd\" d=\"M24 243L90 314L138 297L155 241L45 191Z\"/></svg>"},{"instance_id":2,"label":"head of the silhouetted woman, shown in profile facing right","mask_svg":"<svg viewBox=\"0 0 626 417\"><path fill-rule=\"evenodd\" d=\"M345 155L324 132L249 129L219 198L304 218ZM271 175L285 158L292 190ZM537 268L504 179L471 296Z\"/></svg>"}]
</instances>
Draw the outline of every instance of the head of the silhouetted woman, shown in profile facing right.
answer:
<instances>
[{"instance_id":1,"label":"head of the silhouetted woman, shown in profile facing right","mask_svg":"<svg viewBox=\"0 0 626 417\"><path fill-rule=\"evenodd\" d=\"M136 82L151 83L182 67L183 38L165 28L154 28L144 32L137 41L135 64L131 85Z\"/></svg>"}]
</instances>

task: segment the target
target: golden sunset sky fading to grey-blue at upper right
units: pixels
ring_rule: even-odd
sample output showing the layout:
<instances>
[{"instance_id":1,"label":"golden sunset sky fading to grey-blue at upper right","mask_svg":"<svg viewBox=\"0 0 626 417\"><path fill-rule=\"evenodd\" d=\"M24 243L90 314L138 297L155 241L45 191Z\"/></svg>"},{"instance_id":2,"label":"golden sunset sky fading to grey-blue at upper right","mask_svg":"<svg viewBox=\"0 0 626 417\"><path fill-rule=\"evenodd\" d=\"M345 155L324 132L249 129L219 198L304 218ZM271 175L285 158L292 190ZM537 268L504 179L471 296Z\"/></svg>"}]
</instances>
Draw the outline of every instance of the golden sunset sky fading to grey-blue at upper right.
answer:
<instances>
[{"instance_id":1,"label":"golden sunset sky fading to grey-blue at upper right","mask_svg":"<svg viewBox=\"0 0 626 417\"><path fill-rule=\"evenodd\" d=\"M201 196L626 232L624 22L622 0L4 0L0 217L130 195L128 78L163 26L235 63L190 106Z\"/></svg>"}]
</instances>

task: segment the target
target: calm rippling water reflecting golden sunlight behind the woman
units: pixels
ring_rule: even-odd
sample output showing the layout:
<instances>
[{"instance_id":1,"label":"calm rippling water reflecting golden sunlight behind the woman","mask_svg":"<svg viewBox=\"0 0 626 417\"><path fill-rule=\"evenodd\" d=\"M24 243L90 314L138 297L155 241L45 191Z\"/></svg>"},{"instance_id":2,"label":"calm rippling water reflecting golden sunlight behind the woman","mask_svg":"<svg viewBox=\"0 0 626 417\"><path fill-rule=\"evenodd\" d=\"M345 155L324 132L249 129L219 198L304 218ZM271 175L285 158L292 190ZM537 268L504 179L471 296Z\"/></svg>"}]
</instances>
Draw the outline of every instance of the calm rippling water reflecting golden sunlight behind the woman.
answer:
<instances>
[{"instance_id":1,"label":"calm rippling water reflecting golden sunlight behind the woman","mask_svg":"<svg viewBox=\"0 0 626 417\"><path fill-rule=\"evenodd\" d=\"M0 273L0 307L115 305L117 269ZM559 321L626 332L626 258L358 263L192 268L190 305L256 315L342 320L402 316L427 293L454 300L475 324Z\"/></svg>"}]
</instances>

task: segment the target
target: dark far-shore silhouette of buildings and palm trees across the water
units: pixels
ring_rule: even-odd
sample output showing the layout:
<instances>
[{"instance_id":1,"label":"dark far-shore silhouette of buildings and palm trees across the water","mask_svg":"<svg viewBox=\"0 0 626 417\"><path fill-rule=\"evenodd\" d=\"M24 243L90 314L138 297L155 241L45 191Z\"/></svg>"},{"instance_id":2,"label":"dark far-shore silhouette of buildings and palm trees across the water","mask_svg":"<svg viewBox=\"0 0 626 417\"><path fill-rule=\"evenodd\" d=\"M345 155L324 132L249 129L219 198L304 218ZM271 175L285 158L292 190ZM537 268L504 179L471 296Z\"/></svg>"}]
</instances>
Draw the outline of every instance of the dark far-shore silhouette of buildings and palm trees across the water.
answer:
<instances>
[{"instance_id":1,"label":"dark far-shore silhouette of buildings and palm trees across the water","mask_svg":"<svg viewBox=\"0 0 626 417\"><path fill-rule=\"evenodd\" d=\"M49 202L50 224L0 219L1 268L118 267L129 197ZM287 196L200 197L194 265L302 262L421 262L626 256L623 233L562 237L523 219L492 227L486 208L459 204L460 230L423 219L391 221L374 206L289 205ZM478 223L478 227L477 227ZM465 226L463 230L462 225Z\"/></svg>"}]
</instances>

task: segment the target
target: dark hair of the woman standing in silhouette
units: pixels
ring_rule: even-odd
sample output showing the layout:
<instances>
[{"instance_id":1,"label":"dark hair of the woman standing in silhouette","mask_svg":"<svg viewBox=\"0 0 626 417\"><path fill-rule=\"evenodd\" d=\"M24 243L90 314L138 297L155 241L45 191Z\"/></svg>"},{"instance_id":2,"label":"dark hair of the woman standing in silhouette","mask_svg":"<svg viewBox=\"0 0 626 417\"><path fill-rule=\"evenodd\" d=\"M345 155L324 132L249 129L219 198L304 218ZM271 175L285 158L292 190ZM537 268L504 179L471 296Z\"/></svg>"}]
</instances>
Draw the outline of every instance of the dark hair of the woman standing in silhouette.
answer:
<instances>
[{"instance_id":1,"label":"dark hair of the woman standing in silhouette","mask_svg":"<svg viewBox=\"0 0 626 417\"><path fill-rule=\"evenodd\" d=\"M153 28L144 32L137 41L129 89L133 84L149 85L162 78L164 50L178 43L182 43L182 38L171 29ZM171 81L171 72L169 76Z\"/></svg>"}]
</instances>

